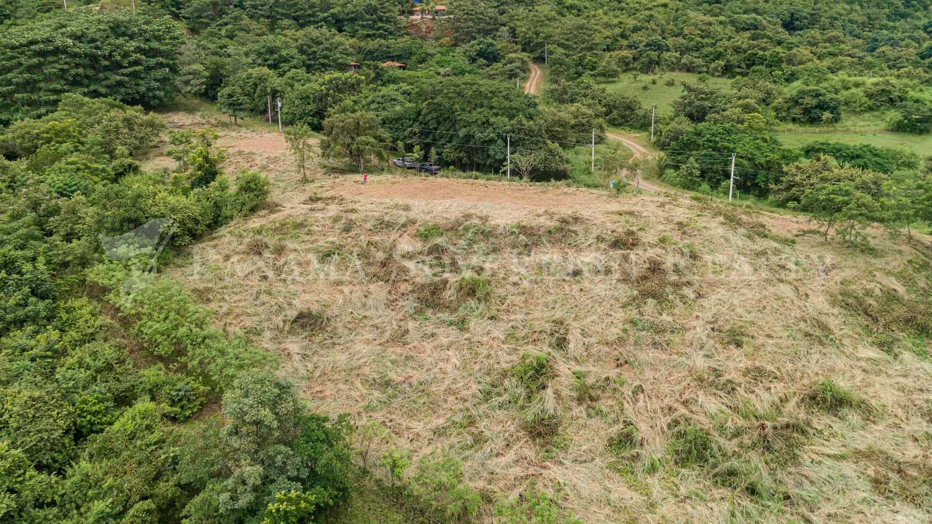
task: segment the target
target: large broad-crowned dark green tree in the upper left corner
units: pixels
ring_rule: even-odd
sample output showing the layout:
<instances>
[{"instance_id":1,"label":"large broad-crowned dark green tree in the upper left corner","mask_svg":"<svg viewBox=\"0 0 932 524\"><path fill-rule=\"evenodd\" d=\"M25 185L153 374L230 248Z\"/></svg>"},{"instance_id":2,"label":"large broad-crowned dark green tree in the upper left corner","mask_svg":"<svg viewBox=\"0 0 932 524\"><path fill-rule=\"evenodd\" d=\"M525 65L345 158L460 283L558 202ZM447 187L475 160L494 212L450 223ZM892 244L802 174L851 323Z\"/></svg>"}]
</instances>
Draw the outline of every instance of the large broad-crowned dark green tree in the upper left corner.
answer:
<instances>
[{"instance_id":1,"label":"large broad-crowned dark green tree in the upper left corner","mask_svg":"<svg viewBox=\"0 0 932 524\"><path fill-rule=\"evenodd\" d=\"M0 46L0 123L49 113L74 92L155 107L174 96L182 35L166 19L82 11L16 25Z\"/></svg>"}]
</instances>

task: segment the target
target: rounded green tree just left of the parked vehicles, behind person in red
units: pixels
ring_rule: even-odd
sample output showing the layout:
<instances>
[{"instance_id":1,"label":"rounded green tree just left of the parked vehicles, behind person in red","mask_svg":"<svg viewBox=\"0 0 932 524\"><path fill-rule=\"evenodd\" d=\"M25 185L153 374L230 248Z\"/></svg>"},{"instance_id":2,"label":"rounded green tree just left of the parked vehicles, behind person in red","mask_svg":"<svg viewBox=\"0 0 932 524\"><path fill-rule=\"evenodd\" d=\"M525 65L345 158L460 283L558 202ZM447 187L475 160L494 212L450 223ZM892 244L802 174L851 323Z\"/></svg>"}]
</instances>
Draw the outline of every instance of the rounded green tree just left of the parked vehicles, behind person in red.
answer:
<instances>
[{"instance_id":1,"label":"rounded green tree just left of the parked vehicles, behind person in red","mask_svg":"<svg viewBox=\"0 0 932 524\"><path fill-rule=\"evenodd\" d=\"M323 121L321 153L326 158L348 159L363 172L367 160L387 158L389 136L372 113L349 113Z\"/></svg>"}]
</instances>

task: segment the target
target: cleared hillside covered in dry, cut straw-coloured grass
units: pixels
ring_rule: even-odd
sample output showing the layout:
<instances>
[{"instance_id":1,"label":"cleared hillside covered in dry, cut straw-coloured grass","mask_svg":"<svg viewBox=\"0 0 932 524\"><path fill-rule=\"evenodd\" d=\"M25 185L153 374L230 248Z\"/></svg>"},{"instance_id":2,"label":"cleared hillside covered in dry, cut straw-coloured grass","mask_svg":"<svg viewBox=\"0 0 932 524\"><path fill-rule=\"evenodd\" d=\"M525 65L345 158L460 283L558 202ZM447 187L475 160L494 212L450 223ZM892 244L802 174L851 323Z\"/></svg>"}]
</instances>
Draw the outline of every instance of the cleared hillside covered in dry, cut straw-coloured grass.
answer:
<instances>
[{"instance_id":1,"label":"cleared hillside covered in dry, cut straw-coloured grass","mask_svg":"<svg viewBox=\"0 0 932 524\"><path fill-rule=\"evenodd\" d=\"M487 502L533 485L583 522L932 519L928 239L854 250L678 195L301 185L270 145L228 159L271 174L271 202L169 274L314 409L384 426L370 467L444 453Z\"/></svg>"}]
</instances>

